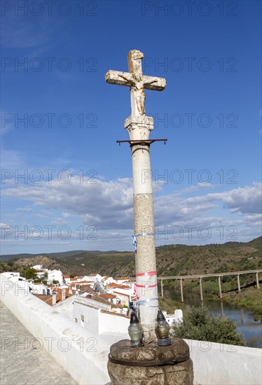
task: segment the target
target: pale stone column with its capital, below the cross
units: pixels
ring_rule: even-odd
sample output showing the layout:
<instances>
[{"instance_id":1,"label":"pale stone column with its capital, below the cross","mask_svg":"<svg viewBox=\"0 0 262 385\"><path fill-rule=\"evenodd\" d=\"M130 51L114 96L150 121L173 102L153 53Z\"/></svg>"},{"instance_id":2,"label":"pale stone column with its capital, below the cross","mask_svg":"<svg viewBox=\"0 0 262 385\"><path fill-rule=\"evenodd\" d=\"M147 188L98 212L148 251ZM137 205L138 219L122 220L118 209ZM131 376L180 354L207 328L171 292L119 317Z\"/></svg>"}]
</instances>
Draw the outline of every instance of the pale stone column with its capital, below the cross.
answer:
<instances>
[{"instance_id":1,"label":"pale stone column with its capital, below the cross","mask_svg":"<svg viewBox=\"0 0 262 385\"><path fill-rule=\"evenodd\" d=\"M130 140L149 139L153 118L131 115L125 120ZM139 294L139 318L145 342L156 337L158 284L156 276L155 225L149 144L130 144L132 153L134 232L137 239L135 270ZM150 273L150 274L148 274ZM145 306L144 303L148 304Z\"/></svg>"}]
</instances>

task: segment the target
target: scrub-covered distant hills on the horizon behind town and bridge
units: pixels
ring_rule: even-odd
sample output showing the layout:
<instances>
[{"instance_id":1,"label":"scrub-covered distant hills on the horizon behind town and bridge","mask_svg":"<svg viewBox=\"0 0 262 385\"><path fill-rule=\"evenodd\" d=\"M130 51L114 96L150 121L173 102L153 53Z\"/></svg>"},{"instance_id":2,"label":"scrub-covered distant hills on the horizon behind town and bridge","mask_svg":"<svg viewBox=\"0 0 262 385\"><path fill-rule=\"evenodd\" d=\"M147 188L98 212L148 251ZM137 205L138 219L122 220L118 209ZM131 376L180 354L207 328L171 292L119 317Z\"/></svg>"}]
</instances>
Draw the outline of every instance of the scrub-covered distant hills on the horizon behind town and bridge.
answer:
<instances>
[{"instance_id":1,"label":"scrub-covered distant hills on the horizon behind town and bridge","mask_svg":"<svg viewBox=\"0 0 262 385\"><path fill-rule=\"evenodd\" d=\"M158 276L262 269L261 245L262 237L249 242L205 246L159 246L156 248ZM67 251L42 254L38 257L27 255L21 254L22 258L12 255L15 261L9 258L6 263L1 263L1 270L18 269L22 272L22 269L29 265L41 264L47 268L61 269L64 274L84 275L98 272L101 275L135 276L134 252Z\"/></svg>"}]
</instances>

